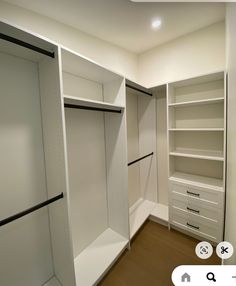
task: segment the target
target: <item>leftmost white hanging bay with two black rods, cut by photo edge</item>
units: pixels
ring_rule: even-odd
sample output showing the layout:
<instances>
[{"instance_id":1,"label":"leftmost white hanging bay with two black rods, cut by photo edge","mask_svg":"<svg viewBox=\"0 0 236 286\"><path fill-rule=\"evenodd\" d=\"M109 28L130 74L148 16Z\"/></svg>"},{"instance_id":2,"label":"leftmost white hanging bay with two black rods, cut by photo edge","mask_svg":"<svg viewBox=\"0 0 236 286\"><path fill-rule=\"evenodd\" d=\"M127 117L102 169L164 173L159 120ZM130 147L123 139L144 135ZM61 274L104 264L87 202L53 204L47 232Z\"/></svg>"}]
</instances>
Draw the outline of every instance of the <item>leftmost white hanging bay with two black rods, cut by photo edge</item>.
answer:
<instances>
[{"instance_id":1,"label":"leftmost white hanging bay with two black rods, cut by photo edge","mask_svg":"<svg viewBox=\"0 0 236 286\"><path fill-rule=\"evenodd\" d=\"M0 284L74 285L57 47L0 30Z\"/></svg>"}]
</instances>

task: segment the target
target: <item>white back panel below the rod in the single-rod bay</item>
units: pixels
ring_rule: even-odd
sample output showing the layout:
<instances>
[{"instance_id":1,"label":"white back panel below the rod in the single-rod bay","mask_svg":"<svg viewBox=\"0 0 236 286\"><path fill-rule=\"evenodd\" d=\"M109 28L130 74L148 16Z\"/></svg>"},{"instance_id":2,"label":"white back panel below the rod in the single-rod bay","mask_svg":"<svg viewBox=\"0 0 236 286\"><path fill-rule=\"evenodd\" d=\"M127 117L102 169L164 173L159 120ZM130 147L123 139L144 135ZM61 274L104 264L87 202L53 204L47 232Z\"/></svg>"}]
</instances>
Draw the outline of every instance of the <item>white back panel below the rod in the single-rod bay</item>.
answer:
<instances>
[{"instance_id":1,"label":"white back panel below the rod in the single-rod bay","mask_svg":"<svg viewBox=\"0 0 236 286\"><path fill-rule=\"evenodd\" d=\"M74 257L108 226L104 114L65 109Z\"/></svg>"}]
</instances>

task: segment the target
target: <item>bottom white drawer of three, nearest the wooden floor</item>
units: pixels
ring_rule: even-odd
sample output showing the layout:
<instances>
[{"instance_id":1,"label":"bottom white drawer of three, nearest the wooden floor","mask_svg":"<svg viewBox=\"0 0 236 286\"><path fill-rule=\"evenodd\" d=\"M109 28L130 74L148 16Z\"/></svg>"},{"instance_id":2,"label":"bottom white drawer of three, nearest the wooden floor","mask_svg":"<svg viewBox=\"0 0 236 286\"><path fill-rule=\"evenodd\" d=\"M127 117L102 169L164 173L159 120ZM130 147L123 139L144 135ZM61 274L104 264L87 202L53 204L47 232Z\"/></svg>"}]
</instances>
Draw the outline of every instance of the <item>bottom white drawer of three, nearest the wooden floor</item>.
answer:
<instances>
[{"instance_id":1,"label":"bottom white drawer of three, nearest the wooden floor","mask_svg":"<svg viewBox=\"0 0 236 286\"><path fill-rule=\"evenodd\" d=\"M212 241L220 241L222 238L222 224L173 207L170 223Z\"/></svg>"}]
</instances>

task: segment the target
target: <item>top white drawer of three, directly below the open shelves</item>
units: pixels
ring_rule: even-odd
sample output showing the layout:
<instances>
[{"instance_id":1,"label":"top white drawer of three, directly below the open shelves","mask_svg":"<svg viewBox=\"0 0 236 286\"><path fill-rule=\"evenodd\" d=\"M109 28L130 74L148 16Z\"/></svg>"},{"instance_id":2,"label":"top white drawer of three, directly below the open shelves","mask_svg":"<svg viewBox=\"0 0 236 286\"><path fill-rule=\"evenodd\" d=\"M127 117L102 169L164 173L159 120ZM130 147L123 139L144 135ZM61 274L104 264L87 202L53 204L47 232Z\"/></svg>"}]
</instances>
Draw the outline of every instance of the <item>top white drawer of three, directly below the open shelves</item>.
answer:
<instances>
[{"instance_id":1,"label":"top white drawer of three, directly below the open shelves","mask_svg":"<svg viewBox=\"0 0 236 286\"><path fill-rule=\"evenodd\" d=\"M188 197L206 200L215 203L219 208L223 208L224 192L173 182L170 182L170 191L177 194L184 194Z\"/></svg>"}]
</instances>

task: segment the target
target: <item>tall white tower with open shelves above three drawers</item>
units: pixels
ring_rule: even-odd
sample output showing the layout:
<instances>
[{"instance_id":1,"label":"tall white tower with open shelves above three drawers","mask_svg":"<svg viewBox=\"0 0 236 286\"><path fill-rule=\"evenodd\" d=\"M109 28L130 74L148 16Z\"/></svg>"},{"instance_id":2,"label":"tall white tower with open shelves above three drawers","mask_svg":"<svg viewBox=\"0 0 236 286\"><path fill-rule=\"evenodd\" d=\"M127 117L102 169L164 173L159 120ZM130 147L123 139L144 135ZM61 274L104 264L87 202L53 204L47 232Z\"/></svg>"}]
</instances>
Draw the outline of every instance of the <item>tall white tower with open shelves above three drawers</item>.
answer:
<instances>
[{"instance_id":1,"label":"tall white tower with open shelves above three drawers","mask_svg":"<svg viewBox=\"0 0 236 286\"><path fill-rule=\"evenodd\" d=\"M218 192L225 192L225 86L224 72L168 85L170 224L214 242L223 234L224 195ZM190 201L179 203L183 195L200 196L203 191L220 209L213 208L204 219L186 211L191 210ZM201 200L195 202L195 209L204 204ZM212 218L217 226L211 225Z\"/></svg>"}]
</instances>

